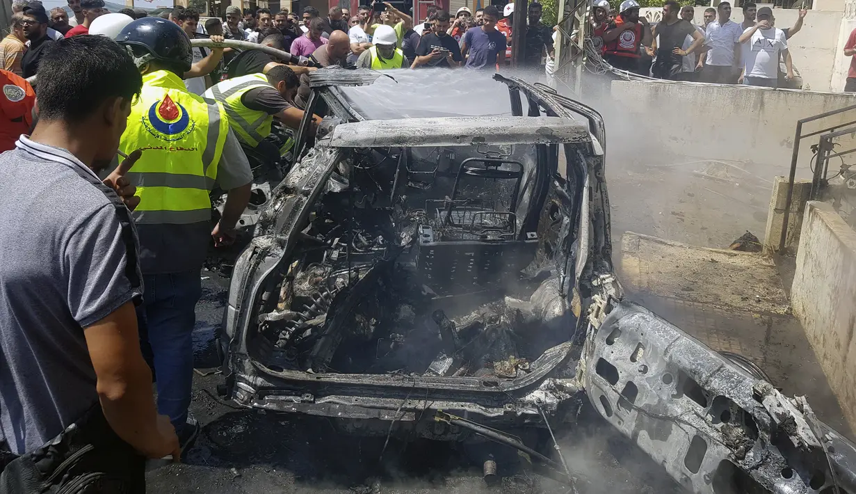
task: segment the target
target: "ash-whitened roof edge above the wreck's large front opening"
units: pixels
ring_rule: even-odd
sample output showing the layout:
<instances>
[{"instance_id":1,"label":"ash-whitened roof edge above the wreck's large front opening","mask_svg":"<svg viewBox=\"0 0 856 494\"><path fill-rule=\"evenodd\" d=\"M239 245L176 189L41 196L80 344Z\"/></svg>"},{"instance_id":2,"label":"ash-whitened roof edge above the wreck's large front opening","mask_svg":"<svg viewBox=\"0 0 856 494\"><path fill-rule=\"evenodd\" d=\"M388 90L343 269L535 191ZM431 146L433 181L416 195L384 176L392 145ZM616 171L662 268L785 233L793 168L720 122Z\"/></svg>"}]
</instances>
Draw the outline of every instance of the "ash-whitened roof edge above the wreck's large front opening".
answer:
<instances>
[{"instance_id":1,"label":"ash-whitened roof edge above the wreck's large front opening","mask_svg":"<svg viewBox=\"0 0 856 494\"><path fill-rule=\"evenodd\" d=\"M591 142L588 125L557 116L446 116L342 123L332 147L478 146Z\"/></svg>"}]
</instances>

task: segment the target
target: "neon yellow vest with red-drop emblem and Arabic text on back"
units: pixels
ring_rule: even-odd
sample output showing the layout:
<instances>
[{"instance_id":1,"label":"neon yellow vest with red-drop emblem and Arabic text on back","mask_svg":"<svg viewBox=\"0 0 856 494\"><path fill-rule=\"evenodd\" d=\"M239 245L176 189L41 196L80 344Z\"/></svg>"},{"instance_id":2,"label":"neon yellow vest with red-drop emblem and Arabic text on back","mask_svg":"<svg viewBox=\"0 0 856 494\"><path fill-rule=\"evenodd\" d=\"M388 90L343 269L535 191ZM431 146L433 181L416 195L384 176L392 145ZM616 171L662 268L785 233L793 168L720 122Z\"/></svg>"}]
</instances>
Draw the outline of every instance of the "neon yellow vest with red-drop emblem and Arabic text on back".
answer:
<instances>
[{"instance_id":1,"label":"neon yellow vest with red-drop emblem and Arabic text on back","mask_svg":"<svg viewBox=\"0 0 856 494\"><path fill-rule=\"evenodd\" d=\"M175 74L143 76L120 149L143 154L128 178L137 187L140 224L187 224L211 220L209 193L217 180L229 119L223 106L190 92Z\"/></svg>"}]
</instances>

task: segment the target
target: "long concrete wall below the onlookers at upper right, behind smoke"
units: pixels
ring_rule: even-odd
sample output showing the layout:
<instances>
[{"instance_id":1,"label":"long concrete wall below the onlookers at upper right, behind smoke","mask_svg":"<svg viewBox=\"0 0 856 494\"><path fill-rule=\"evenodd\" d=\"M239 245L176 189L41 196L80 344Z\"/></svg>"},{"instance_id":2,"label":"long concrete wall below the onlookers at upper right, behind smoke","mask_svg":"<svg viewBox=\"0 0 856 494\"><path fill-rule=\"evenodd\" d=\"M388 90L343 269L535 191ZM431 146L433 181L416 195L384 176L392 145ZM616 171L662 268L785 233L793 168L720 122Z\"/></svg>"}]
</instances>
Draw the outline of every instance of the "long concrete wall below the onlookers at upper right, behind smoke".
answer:
<instances>
[{"instance_id":1,"label":"long concrete wall below the onlookers at upper right, behind smoke","mask_svg":"<svg viewBox=\"0 0 856 494\"><path fill-rule=\"evenodd\" d=\"M789 173L797 120L856 104L856 95L845 93L628 80L612 81L610 99L628 122L640 123L634 127L640 140L678 156L775 165L773 176ZM856 110L847 111L823 120L823 127L806 124L803 134L854 120ZM816 143L817 137L802 141L798 177L811 178ZM839 149L856 147L851 144L843 141Z\"/></svg>"}]
</instances>

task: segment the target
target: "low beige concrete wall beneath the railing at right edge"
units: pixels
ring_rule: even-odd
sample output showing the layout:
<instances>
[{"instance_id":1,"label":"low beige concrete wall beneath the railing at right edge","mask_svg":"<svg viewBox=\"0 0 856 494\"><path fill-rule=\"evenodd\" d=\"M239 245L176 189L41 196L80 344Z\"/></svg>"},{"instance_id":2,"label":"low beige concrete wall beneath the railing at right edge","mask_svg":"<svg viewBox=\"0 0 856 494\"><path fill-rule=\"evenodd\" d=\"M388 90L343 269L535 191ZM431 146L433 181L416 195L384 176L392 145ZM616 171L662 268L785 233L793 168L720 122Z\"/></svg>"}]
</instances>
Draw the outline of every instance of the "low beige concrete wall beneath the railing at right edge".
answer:
<instances>
[{"instance_id":1,"label":"low beige concrete wall beneath the railing at right edge","mask_svg":"<svg viewBox=\"0 0 856 494\"><path fill-rule=\"evenodd\" d=\"M856 429L856 232L828 204L805 209L791 304Z\"/></svg>"}]
</instances>

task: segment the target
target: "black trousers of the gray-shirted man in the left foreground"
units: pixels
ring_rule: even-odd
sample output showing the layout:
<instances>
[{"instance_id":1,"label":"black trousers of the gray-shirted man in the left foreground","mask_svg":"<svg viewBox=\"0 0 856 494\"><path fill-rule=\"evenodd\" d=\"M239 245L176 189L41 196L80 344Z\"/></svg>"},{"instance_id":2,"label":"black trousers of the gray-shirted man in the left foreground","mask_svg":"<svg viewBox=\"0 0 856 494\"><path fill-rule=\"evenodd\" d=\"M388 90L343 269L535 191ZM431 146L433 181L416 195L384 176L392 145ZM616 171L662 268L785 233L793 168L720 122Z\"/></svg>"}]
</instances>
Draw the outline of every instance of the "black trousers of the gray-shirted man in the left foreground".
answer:
<instances>
[{"instance_id":1,"label":"black trousers of the gray-shirted man in the left foreground","mask_svg":"<svg viewBox=\"0 0 856 494\"><path fill-rule=\"evenodd\" d=\"M116 436L101 407L26 455L0 451L0 494L142 494L146 458Z\"/></svg>"}]
</instances>

